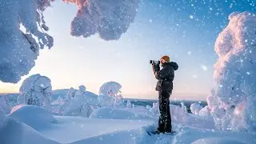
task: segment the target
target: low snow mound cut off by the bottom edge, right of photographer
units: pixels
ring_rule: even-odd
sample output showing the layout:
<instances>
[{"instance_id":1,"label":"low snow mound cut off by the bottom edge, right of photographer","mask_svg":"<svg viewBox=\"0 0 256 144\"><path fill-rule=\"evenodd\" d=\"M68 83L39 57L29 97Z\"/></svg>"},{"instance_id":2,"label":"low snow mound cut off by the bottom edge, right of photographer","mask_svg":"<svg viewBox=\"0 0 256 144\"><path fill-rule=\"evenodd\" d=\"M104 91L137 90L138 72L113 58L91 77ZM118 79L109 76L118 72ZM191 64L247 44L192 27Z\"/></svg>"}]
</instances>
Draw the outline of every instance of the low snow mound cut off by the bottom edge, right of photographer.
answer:
<instances>
[{"instance_id":1,"label":"low snow mound cut off by the bottom edge, right of photographer","mask_svg":"<svg viewBox=\"0 0 256 144\"><path fill-rule=\"evenodd\" d=\"M238 140L231 138L201 138L198 139L192 144L246 144L245 142L239 142Z\"/></svg>"}]
</instances>

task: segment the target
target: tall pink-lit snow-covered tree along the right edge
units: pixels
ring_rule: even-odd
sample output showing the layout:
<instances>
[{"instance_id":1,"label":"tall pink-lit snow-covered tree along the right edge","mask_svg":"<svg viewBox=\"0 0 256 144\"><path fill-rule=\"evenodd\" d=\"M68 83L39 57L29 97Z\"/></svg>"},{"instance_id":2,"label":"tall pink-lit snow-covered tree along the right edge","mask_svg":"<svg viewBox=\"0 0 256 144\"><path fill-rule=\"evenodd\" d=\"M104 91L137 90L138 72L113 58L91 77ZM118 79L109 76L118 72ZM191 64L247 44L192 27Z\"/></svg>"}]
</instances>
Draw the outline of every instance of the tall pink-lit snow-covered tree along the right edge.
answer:
<instances>
[{"instance_id":1,"label":"tall pink-lit snow-covered tree along the right edge","mask_svg":"<svg viewBox=\"0 0 256 144\"><path fill-rule=\"evenodd\" d=\"M229 19L215 42L219 58L207 102L218 128L256 131L256 16L233 13Z\"/></svg>"}]
</instances>

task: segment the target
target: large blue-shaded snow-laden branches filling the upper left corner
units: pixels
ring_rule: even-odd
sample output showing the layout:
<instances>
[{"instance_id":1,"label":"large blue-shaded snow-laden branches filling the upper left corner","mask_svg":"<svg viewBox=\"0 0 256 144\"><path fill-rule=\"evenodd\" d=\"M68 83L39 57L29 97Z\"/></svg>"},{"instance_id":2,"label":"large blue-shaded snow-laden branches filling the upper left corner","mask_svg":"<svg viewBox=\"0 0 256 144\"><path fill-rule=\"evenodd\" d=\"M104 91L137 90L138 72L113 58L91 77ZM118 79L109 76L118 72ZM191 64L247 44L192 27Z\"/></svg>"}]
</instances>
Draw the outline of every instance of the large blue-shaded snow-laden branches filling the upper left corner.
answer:
<instances>
[{"instance_id":1,"label":"large blue-shaded snow-laden branches filling the upper left corner","mask_svg":"<svg viewBox=\"0 0 256 144\"><path fill-rule=\"evenodd\" d=\"M48 27L40 14L49 6L47 3L40 0L1 0L0 81L18 82L34 66L39 49L53 46L53 38L44 32ZM20 30L20 25L25 29Z\"/></svg>"}]
</instances>

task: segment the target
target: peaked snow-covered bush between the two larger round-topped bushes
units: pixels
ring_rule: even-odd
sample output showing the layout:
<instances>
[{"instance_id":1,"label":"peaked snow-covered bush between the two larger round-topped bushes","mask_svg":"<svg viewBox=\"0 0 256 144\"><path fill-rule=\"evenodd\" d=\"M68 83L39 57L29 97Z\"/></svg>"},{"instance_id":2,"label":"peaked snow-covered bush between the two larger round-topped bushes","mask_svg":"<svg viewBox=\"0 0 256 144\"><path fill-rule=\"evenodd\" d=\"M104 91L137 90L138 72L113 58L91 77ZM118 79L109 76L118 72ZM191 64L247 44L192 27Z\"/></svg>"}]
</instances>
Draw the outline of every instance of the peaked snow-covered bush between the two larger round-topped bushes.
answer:
<instances>
[{"instance_id":1,"label":"peaked snow-covered bush between the two larger round-topped bushes","mask_svg":"<svg viewBox=\"0 0 256 144\"><path fill-rule=\"evenodd\" d=\"M85 86L79 86L79 90L73 99L66 99L62 106L63 115L79 115L89 117L98 108L98 95L86 91Z\"/></svg>"}]
</instances>

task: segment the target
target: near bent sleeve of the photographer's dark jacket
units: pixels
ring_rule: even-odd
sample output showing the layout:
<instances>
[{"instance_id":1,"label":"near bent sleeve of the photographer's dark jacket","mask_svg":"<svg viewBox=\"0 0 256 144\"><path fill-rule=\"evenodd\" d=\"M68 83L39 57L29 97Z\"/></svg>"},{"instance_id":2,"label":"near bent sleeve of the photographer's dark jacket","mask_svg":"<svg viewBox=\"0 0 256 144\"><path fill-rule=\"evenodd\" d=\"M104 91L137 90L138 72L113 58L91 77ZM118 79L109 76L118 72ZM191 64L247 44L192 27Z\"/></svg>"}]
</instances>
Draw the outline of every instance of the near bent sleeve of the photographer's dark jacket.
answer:
<instances>
[{"instance_id":1,"label":"near bent sleeve of the photographer's dark jacket","mask_svg":"<svg viewBox=\"0 0 256 144\"><path fill-rule=\"evenodd\" d=\"M162 70L158 70L154 73L155 78L163 79L163 78L174 78L174 68L172 66L165 66Z\"/></svg>"}]
</instances>

